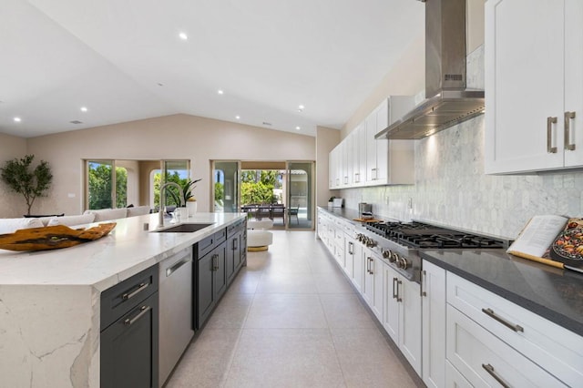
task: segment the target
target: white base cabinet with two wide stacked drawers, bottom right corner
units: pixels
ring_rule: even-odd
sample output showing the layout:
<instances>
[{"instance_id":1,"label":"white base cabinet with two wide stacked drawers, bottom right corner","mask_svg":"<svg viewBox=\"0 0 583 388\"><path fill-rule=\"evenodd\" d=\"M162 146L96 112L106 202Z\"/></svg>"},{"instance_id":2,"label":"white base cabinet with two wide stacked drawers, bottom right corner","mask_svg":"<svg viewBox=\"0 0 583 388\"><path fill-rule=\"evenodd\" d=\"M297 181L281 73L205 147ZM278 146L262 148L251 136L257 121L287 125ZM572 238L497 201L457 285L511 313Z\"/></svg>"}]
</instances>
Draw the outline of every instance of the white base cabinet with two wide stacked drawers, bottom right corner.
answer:
<instances>
[{"instance_id":1,"label":"white base cabinet with two wide stacked drawers, bottom right corner","mask_svg":"<svg viewBox=\"0 0 583 388\"><path fill-rule=\"evenodd\" d=\"M451 272L446 290L447 360L470 383L581 386L583 337Z\"/></svg>"}]
</instances>

